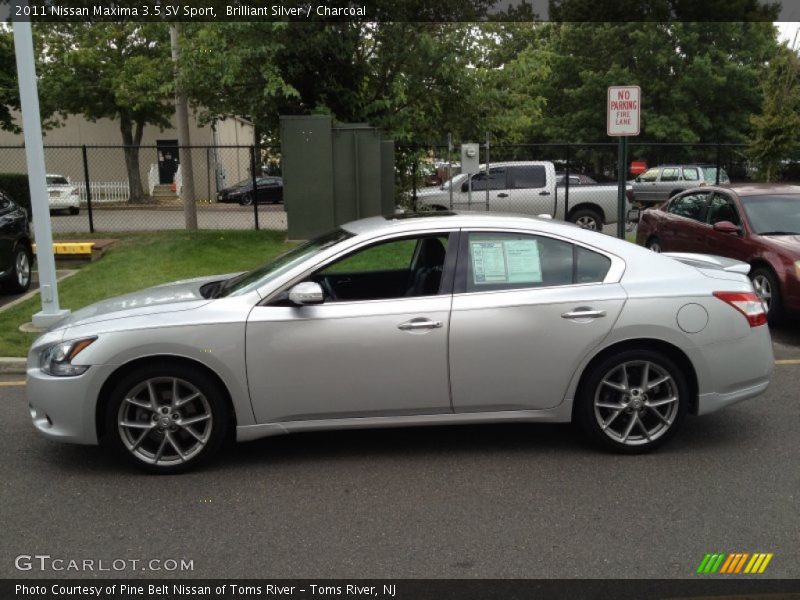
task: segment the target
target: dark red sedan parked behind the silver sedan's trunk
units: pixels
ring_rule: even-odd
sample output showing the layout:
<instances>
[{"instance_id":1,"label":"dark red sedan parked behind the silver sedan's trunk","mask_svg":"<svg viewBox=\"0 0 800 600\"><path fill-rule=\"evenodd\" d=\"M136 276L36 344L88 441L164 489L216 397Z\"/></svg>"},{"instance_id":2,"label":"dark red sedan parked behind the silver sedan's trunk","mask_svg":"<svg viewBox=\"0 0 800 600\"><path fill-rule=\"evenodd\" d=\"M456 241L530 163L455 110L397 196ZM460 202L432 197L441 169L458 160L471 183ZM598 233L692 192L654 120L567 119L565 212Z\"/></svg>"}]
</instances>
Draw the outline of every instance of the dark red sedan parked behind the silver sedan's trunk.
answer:
<instances>
[{"instance_id":1,"label":"dark red sedan parked behind the silver sedan's trunk","mask_svg":"<svg viewBox=\"0 0 800 600\"><path fill-rule=\"evenodd\" d=\"M771 322L800 311L800 186L734 185L683 192L641 215L636 241L750 265Z\"/></svg>"}]
</instances>

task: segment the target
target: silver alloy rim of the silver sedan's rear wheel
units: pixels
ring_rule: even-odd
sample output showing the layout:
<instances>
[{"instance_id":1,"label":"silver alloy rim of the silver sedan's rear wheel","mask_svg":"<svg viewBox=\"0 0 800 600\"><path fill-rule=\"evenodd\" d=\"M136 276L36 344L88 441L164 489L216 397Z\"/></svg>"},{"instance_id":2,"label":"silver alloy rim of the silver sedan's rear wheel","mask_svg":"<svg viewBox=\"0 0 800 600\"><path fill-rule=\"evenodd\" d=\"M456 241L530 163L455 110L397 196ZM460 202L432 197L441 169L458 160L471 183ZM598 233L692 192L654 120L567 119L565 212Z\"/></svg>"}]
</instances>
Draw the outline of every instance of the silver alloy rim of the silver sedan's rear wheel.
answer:
<instances>
[{"instance_id":1,"label":"silver alloy rim of the silver sedan's rear wheel","mask_svg":"<svg viewBox=\"0 0 800 600\"><path fill-rule=\"evenodd\" d=\"M657 363L629 361L610 369L594 395L594 417L602 432L626 446L654 442L678 416L678 386Z\"/></svg>"}]
</instances>

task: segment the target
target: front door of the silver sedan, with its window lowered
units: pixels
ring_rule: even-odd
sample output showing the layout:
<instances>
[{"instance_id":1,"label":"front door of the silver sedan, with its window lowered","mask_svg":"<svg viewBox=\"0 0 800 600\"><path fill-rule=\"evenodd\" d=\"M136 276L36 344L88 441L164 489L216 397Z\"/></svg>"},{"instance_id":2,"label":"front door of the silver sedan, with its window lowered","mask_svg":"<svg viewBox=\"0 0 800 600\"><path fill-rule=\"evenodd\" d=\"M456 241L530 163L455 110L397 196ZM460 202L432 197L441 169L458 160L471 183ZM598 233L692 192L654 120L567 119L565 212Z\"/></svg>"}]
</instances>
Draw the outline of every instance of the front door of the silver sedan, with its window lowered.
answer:
<instances>
[{"instance_id":1,"label":"front door of the silver sedan, with its window lowered","mask_svg":"<svg viewBox=\"0 0 800 600\"><path fill-rule=\"evenodd\" d=\"M451 412L447 338L457 237L400 236L309 271L319 305L278 300L248 319L260 423ZM447 265L450 263L448 262Z\"/></svg>"}]
</instances>

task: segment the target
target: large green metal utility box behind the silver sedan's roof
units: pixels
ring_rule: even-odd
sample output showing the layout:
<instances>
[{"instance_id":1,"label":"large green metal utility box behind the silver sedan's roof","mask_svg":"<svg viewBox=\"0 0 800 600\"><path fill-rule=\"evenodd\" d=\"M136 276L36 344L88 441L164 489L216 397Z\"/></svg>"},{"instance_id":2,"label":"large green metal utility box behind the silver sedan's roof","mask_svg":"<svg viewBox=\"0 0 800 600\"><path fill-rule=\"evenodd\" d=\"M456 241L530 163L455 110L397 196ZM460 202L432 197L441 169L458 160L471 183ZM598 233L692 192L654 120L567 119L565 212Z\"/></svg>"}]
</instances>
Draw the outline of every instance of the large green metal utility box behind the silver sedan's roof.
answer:
<instances>
[{"instance_id":1,"label":"large green metal utility box behind the silver sedan's roof","mask_svg":"<svg viewBox=\"0 0 800 600\"><path fill-rule=\"evenodd\" d=\"M394 210L394 142L376 127L281 117L281 151L289 239Z\"/></svg>"}]
</instances>

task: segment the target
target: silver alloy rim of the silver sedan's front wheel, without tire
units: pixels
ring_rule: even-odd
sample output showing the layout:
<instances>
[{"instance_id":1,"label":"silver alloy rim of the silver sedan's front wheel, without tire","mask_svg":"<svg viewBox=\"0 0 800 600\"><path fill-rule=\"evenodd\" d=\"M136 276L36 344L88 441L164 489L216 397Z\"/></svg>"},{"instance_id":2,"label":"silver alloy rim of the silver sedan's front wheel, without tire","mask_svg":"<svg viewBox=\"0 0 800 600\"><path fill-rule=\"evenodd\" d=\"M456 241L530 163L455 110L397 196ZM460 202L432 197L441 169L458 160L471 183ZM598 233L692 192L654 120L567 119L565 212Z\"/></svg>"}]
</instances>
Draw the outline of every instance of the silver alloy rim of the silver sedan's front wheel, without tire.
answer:
<instances>
[{"instance_id":1,"label":"silver alloy rim of the silver sedan's front wheel, without tire","mask_svg":"<svg viewBox=\"0 0 800 600\"><path fill-rule=\"evenodd\" d=\"M169 467L203 450L214 419L208 399L197 387L177 377L154 377L125 394L117 424L122 443L134 457Z\"/></svg>"}]
</instances>

